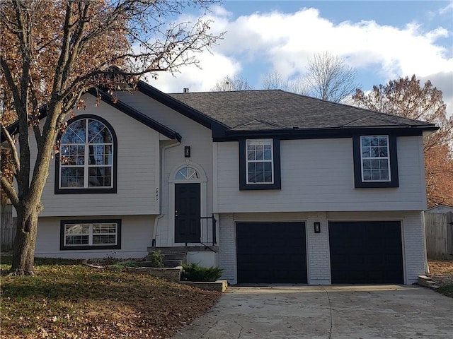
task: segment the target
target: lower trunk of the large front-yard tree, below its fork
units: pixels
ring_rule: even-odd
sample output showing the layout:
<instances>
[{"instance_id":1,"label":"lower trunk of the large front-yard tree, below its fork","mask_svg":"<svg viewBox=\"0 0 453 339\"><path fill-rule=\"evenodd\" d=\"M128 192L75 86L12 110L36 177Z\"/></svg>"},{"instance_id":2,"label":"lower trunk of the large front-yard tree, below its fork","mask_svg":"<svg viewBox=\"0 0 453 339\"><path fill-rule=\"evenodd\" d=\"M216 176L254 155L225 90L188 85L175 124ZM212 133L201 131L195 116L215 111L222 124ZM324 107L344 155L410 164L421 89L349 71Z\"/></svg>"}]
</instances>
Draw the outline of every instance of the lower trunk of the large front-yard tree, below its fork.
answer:
<instances>
[{"instance_id":1,"label":"lower trunk of the large front-yard tree, below its fork","mask_svg":"<svg viewBox=\"0 0 453 339\"><path fill-rule=\"evenodd\" d=\"M39 204L40 205L40 204ZM13 261L10 275L34 275L35 243L38 230L38 215L40 206L25 208L17 211L17 230L14 238Z\"/></svg>"}]
</instances>

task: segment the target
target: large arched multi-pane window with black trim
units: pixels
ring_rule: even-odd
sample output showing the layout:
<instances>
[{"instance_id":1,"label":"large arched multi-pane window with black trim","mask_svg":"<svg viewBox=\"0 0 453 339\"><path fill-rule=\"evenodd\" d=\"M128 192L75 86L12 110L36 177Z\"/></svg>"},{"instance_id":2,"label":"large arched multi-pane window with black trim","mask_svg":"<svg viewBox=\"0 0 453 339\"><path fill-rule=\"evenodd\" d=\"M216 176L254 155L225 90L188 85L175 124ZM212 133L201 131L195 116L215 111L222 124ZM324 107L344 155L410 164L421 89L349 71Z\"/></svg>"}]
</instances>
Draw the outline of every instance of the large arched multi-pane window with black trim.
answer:
<instances>
[{"instance_id":1,"label":"large arched multi-pane window with black trim","mask_svg":"<svg viewBox=\"0 0 453 339\"><path fill-rule=\"evenodd\" d=\"M100 117L70 120L59 140L55 193L115 193L116 136Z\"/></svg>"}]
</instances>

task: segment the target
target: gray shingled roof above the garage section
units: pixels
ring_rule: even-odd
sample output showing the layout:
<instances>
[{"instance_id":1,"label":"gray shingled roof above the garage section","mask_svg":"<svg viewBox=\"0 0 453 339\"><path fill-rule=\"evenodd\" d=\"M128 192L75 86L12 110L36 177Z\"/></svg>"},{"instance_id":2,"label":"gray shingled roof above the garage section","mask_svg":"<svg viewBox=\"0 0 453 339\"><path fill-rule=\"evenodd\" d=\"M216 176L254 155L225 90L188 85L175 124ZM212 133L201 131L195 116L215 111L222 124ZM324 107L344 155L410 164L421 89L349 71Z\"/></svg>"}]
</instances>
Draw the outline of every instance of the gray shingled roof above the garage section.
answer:
<instances>
[{"instance_id":1,"label":"gray shingled roof above the garage section","mask_svg":"<svg viewBox=\"0 0 453 339\"><path fill-rule=\"evenodd\" d=\"M424 121L396 117L283 90L173 93L171 97L229 126L231 131L415 127Z\"/></svg>"}]
</instances>

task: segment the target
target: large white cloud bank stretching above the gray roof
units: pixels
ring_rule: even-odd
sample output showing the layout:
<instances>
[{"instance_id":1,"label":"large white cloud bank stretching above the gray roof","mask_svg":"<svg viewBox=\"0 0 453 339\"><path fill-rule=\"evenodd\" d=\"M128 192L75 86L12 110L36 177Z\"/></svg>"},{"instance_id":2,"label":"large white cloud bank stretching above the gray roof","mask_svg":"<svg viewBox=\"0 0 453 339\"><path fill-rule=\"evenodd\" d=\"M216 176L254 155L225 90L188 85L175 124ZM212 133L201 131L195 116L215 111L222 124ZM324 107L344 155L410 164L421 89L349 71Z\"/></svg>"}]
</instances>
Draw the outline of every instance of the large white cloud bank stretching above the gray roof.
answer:
<instances>
[{"instance_id":1,"label":"large white cloud bank stretching above the gray roof","mask_svg":"<svg viewBox=\"0 0 453 339\"><path fill-rule=\"evenodd\" d=\"M452 3L443 11L451 9ZM210 90L220 78L240 76L241 69L246 74L246 65L253 64L263 67L256 78L273 69L283 76L296 76L304 73L314 54L328 51L345 58L358 73L365 70L376 74L381 83L413 74L423 79L432 76L430 80L444 92L446 102L453 97L449 94L452 92L449 78L453 74L451 47L440 43L452 37L447 28L425 31L416 23L398 28L373 20L334 24L322 18L315 8L234 18L217 6L210 18L214 20L214 32L227 32L219 46L213 47L214 54L200 54L202 70L188 66L181 69L176 78L162 74L156 87L164 91L180 91L183 87L190 87L192 91ZM265 69L266 65L270 68ZM439 76L442 74L445 76ZM247 80L247 76L243 78ZM436 83L441 78L442 81ZM450 102L447 104L451 112Z\"/></svg>"}]
</instances>

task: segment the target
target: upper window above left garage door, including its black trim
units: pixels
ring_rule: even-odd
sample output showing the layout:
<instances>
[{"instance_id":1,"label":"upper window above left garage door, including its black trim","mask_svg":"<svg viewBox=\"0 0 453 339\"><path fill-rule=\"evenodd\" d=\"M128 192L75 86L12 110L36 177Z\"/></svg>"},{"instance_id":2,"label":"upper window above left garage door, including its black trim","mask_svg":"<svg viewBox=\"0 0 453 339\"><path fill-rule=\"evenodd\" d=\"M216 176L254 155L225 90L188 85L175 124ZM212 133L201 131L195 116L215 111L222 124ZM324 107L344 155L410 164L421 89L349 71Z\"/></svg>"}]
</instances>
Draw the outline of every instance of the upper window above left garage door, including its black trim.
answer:
<instances>
[{"instance_id":1,"label":"upper window above left garage door, including its black trim","mask_svg":"<svg viewBox=\"0 0 453 339\"><path fill-rule=\"evenodd\" d=\"M280 140L239 141L239 189L280 189Z\"/></svg>"}]
</instances>

